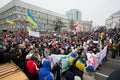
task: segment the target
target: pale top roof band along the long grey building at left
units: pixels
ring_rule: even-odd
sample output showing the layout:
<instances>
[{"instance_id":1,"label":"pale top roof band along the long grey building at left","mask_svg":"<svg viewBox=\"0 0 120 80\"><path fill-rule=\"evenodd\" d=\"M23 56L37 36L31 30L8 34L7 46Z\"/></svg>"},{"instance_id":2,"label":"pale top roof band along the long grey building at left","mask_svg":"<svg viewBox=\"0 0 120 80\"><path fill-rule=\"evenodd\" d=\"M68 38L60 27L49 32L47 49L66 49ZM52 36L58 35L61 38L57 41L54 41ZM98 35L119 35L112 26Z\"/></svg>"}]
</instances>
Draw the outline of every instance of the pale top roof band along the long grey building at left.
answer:
<instances>
[{"instance_id":1,"label":"pale top roof band along the long grey building at left","mask_svg":"<svg viewBox=\"0 0 120 80\"><path fill-rule=\"evenodd\" d=\"M65 19L68 19L65 15L62 15L62 14L59 14L57 12L47 10L45 8L41 8L41 7L29 4L29 3L26 3L24 1L20 1L20 0L12 0L8 4L6 4L2 8L0 8L0 13L12 8L13 6L21 6L21 7L27 8L27 9L31 9L31 10L35 10L35 11L42 11L44 13L49 13L51 15L56 15L58 17L64 17Z\"/></svg>"}]
</instances>

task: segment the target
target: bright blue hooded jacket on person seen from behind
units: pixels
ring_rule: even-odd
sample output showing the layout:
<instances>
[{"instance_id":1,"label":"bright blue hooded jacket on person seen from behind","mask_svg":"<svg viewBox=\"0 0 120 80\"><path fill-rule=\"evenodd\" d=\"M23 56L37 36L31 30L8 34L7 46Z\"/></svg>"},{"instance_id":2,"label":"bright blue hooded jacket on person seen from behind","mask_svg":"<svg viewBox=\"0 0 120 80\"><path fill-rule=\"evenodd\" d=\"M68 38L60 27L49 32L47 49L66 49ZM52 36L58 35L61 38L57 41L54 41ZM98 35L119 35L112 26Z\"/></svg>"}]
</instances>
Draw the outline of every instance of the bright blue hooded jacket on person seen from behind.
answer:
<instances>
[{"instance_id":1,"label":"bright blue hooded jacket on person seen from behind","mask_svg":"<svg viewBox=\"0 0 120 80\"><path fill-rule=\"evenodd\" d=\"M43 67L39 70L39 80L53 80L50 74L50 61L44 61Z\"/></svg>"}]
</instances>

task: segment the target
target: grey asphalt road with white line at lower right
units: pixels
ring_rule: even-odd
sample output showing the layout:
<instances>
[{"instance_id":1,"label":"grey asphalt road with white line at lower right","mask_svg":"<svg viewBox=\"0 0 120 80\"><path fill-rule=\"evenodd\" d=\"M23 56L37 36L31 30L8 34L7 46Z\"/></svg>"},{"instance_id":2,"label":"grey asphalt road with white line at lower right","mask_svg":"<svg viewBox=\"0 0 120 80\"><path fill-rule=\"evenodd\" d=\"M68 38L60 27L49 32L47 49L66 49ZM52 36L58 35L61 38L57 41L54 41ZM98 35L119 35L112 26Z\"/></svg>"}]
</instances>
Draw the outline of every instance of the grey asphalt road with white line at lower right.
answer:
<instances>
[{"instance_id":1,"label":"grey asphalt road with white line at lower right","mask_svg":"<svg viewBox=\"0 0 120 80\"><path fill-rule=\"evenodd\" d=\"M110 59L107 62L103 62L100 70L96 70L96 80L106 80L107 77L115 70L120 69L120 57L116 59Z\"/></svg>"}]
</instances>

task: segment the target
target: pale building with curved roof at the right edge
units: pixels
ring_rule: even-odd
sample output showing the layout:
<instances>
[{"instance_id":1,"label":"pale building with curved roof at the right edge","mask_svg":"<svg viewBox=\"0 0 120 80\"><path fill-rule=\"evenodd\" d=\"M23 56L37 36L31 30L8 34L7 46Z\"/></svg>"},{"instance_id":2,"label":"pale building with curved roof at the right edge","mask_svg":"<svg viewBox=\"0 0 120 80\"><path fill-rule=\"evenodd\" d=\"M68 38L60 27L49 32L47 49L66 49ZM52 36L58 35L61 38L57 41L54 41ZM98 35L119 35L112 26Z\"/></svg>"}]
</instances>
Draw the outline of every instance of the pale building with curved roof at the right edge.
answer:
<instances>
[{"instance_id":1,"label":"pale building with curved roof at the right edge","mask_svg":"<svg viewBox=\"0 0 120 80\"><path fill-rule=\"evenodd\" d=\"M105 21L107 29L120 28L120 11L114 13Z\"/></svg>"}]
</instances>

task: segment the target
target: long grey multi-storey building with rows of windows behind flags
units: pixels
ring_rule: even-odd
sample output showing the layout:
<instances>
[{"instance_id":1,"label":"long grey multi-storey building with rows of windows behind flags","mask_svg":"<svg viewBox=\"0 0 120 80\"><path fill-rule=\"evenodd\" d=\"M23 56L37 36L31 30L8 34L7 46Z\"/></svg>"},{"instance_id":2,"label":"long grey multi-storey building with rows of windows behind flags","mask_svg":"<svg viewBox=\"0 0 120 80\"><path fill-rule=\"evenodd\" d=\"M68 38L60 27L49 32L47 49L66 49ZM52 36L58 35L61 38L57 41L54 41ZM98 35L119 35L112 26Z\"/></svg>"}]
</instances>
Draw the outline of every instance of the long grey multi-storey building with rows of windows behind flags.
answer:
<instances>
[{"instance_id":1,"label":"long grey multi-storey building with rows of windows behind flags","mask_svg":"<svg viewBox=\"0 0 120 80\"><path fill-rule=\"evenodd\" d=\"M26 19L28 10L34 16L38 25L42 25L45 30L53 30L55 20L61 20L63 25L68 26L68 18L65 15L46 10L20 0L12 0L0 9L0 28L25 28L32 26ZM5 22L6 17L14 21L14 25Z\"/></svg>"}]
</instances>

